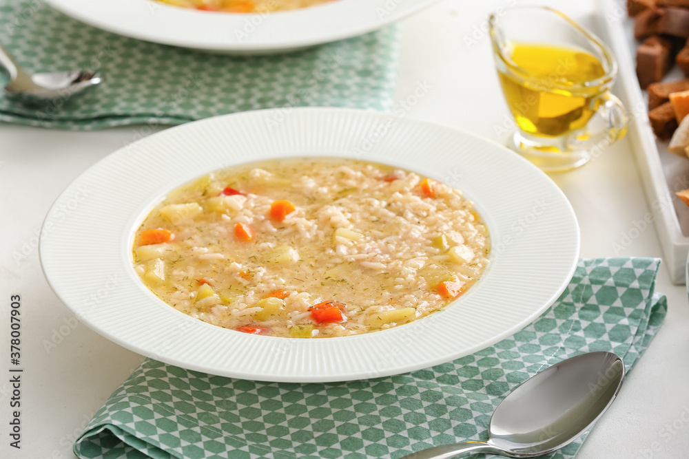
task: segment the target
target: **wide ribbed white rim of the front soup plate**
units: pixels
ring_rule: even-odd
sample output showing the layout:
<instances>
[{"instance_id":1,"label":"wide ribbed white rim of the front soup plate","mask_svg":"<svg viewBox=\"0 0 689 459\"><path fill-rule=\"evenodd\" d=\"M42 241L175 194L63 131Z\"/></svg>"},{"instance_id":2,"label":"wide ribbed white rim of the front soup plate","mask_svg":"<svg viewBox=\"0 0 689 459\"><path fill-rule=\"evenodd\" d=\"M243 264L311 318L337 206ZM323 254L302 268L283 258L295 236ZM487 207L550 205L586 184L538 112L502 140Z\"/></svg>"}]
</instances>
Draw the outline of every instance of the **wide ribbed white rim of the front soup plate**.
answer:
<instances>
[{"instance_id":1,"label":"wide ribbed white rim of the front soup plate","mask_svg":"<svg viewBox=\"0 0 689 459\"><path fill-rule=\"evenodd\" d=\"M579 255L579 227L575 213L557 185L533 164L515 153L495 142L451 127L356 109L294 109L284 118L283 125L279 127L284 129L278 129L278 131L269 134L266 130L267 120L274 120L274 116L278 114L284 116L281 109L249 111L208 118L167 129L119 149L76 178L57 198L48 212L43 224L39 247L41 266L45 277L61 301L72 310L76 317L104 337L134 352L165 363L220 376L259 381L306 383L348 381L400 374L477 352L511 336L531 323L551 306L568 285ZM415 151L413 142L423 142L422 145L429 145L429 142L432 141L429 139L445 136L441 139L444 142L442 145L449 145L450 150L448 151L451 151L453 155L460 155L462 164L471 162L472 158L475 158L473 160L475 164L469 164L471 170L493 171L500 177L500 184L508 186L511 191L505 197L500 191L496 191L500 194L499 197L490 197L493 203L506 201L506 209L486 209L482 200L487 202L488 196L471 195L466 187L459 185L460 188L467 191L469 198L476 201L478 211L482 213L489 226L491 237L493 237L492 266L476 286L455 301L451 308L440 313L444 314L444 319L438 319L440 315L436 313L391 330L346 338L299 340L258 337L225 330L187 317L157 299L134 274L130 255L134 228L141 222L147 209L150 209L154 198L158 198L166 191L171 191L191 178L201 175L198 171L205 173L218 169L217 158L210 158L210 156L218 154L225 158L227 151L223 150L225 148L223 140L225 140L226 135L236 136L236 144L233 144L232 148L245 148L247 151L265 148L263 145L265 142L268 145L282 145L290 141L305 142L303 145L311 145L318 149L316 151L318 154L303 150L300 151L301 154L296 155L294 150L280 150L280 147L276 147L276 150L266 153L266 158L302 155L351 158L351 149L340 151L339 155L333 155L332 151L322 151L323 145L335 145L336 148L341 149L342 147L337 146L337 142L341 140L351 147L351 139L347 138L351 133L343 131L343 129L351 128L360 133L370 134L379 131L379 127L387 125L385 123L388 122L395 124L361 159L397 164L407 167L407 169L417 169L420 173L442 180L444 178L442 174L446 171L437 169L437 164L434 165L433 162L439 160L442 162L443 158L448 157L424 156L422 165L410 168L407 163L400 164L402 160L397 156L407 154L404 153L407 151L405 149ZM298 133L295 126L309 127L310 129L303 129L304 132ZM390 125L387 126L390 127ZM328 129L330 131L327 131ZM311 134L312 132L326 132L329 136L314 136ZM262 133L264 138L256 137L258 133ZM256 145L243 143L241 136L246 136L245 138L249 139L248 142L258 143ZM293 137L297 139L289 140ZM414 140L415 138L417 140ZM157 177L152 178L153 184L139 185L139 188L148 187L143 191L136 188L132 190L131 183L120 189L116 188L120 183L116 180L128 176L121 174L132 173L130 171L133 164L132 158L136 159L137 164L146 164L147 161L156 164L156 160L170 158L170 152L174 149L177 150L174 150L172 157L180 158L181 156L178 155L177 151L186 151L185 148L189 142L196 145L196 142L218 140L221 145L218 147L218 151L215 153L204 151L200 155L194 156L194 164L199 163L198 170L163 169ZM271 143L274 140L277 143ZM460 151L460 148L468 147L456 147L457 151L455 151L455 145L462 145L461 142L465 142L464 145L471 147L472 151L473 147L480 147L483 149L483 155L473 156L471 152ZM390 158L393 154L390 151L390 145L399 147L393 152L395 158L392 159ZM327 154L324 155L323 153ZM387 155L386 158L389 160L381 161L378 157L379 154ZM204 155L209 156L209 158L205 158ZM496 164L495 158L500 158L504 164ZM233 157L229 159L228 164L247 162L245 159L247 158ZM256 158L251 158L251 160L254 159ZM206 161L207 164L203 161ZM436 168L435 172L433 172L433 167ZM174 178L170 178L170 174ZM515 176L515 174L519 177L515 177L510 182L510 177ZM520 182L519 179L524 179L524 182ZM107 180L113 180L114 183L107 182ZM465 183L471 182L471 180L475 180L477 183L484 182L484 180L470 179L469 175L460 178L460 180ZM97 184L95 188L94 183ZM520 183L522 183L523 189L520 190L519 186L515 189L515 184ZM103 186L103 188L98 189L98 186ZM492 189L490 181L485 185L473 184L471 186L486 186ZM83 202L77 202L76 208L65 218L63 213L65 213L65 209L70 209L69 204L76 200L79 190L88 190L89 187L92 190L90 195L87 195ZM113 188L115 189L113 190ZM107 192L116 191L120 200L126 201L131 198L134 201L138 199L138 202L127 204L126 209L116 209L112 207L112 204L117 201L113 201L112 197L103 195L101 193L103 189ZM534 189L537 194L531 193L529 195L524 189ZM478 189L471 191L473 193L479 192ZM480 192L484 193L484 191ZM537 199L533 198L536 195L545 196L548 202L542 216L536 218L531 226L522 227L522 231L517 234L516 230L513 231L514 228L509 228L507 224L502 222L502 220L508 219L508 223L514 222L512 226L516 226L519 218L515 215L528 216L528 209L535 209L535 206L532 206L533 202L524 204L521 200L524 198ZM542 199L545 200L546 198ZM105 208L109 209L110 213L107 215L111 219L113 218L112 213L118 212L118 215L114 216L114 220L107 221L109 226L104 231L110 235L112 240L106 241L107 244L103 245L103 243L96 244L87 241L88 237L86 236L90 234L88 232L90 225L96 225L94 228L100 228L98 225L101 225L102 220L98 220L100 215L96 215L96 211L102 211L104 204ZM513 210L514 207L520 209ZM526 209L526 213L524 209ZM509 212L513 213L507 215ZM94 220L94 216L96 220ZM559 226L555 226L557 231L554 234L551 234L554 228L551 220L559 222L557 223ZM524 231L525 229L528 231ZM81 231L86 231L84 233L86 236L82 235ZM506 237L515 234L522 239L528 239L528 244L524 245L521 239L515 236L515 241L511 242L512 245L506 244L506 248L498 252L497 244L506 242ZM533 264L534 266L524 266L524 263L528 264L528 260L534 256L533 241L544 237L553 238L552 242L548 242L551 239L543 242L543 244L549 244L548 253L536 253L535 256L539 262ZM98 252L96 248L101 249L101 251ZM532 252L525 255L522 253L524 250L532 250ZM98 255L94 255L96 252ZM529 273L538 273L539 279L533 279L533 283L529 284L524 279L530 278L524 277L524 273L516 273L514 268L508 272L509 266L513 262L518 262L519 268ZM120 275L119 282L121 284L110 291L107 290L107 279L109 275L112 276L112 273L117 273L115 276ZM497 287L500 290L497 290ZM489 289L495 291L489 291ZM105 292L103 299L100 297L101 291ZM88 298L94 298L94 295L96 295L97 302L89 302ZM520 296L517 297L517 295ZM538 303L533 305L528 303L532 298ZM145 312L147 318L161 319L161 324L156 325L158 328L151 329L150 325L143 323L145 321L132 323L132 317L125 317L126 312L120 312L121 308L131 308L132 301L145 305L144 309L136 308L137 312ZM500 301L503 303L495 306L494 303ZM524 306L520 306L521 310L513 312L515 303L517 306L522 304ZM476 305L480 305L484 309L480 311L471 310ZM495 309L496 307L497 309ZM509 319L508 324L495 323L495 319L505 321L505 314ZM471 323L458 321L467 317L471 318ZM450 326L448 323L453 327L450 332L446 329L442 330L443 327ZM442 339L431 339L429 333L424 332L429 328L431 331L442 330ZM173 330L175 339L183 342L167 343L165 339L169 334L166 334L165 330ZM454 336L453 333L455 332L461 336ZM163 338L163 334L165 334L165 338ZM217 342L216 339L221 339L225 346L221 349L224 351L192 351L190 354L189 349L184 347L186 343L198 345L198 343L207 342L209 337L214 343ZM459 343L459 348L455 348L457 343ZM243 350L245 354L228 354L227 349ZM376 355L376 349L395 350L396 354ZM424 351L420 352L419 349L424 349ZM414 355L410 356L409 354ZM335 361L328 361L328 355L336 356Z\"/></svg>"}]
</instances>

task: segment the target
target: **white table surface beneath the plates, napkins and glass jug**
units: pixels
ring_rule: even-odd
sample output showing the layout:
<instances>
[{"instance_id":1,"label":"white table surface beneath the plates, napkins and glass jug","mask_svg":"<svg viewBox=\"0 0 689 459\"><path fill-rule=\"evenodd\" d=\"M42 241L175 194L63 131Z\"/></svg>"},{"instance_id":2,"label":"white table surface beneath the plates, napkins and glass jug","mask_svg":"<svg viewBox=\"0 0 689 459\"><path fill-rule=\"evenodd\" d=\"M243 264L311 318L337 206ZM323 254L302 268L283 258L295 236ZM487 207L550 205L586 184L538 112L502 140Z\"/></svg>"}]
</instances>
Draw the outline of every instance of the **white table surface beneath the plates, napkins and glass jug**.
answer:
<instances>
[{"instance_id":1,"label":"white table surface beneath the plates, napkins and glass jug","mask_svg":"<svg viewBox=\"0 0 689 459\"><path fill-rule=\"evenodd\" d=\"M493 68L486 14L513 3L444 0L404 21L397 98L406 100L420 83L431 87L409 116L504 140L496 127L510 118ZM602 34L595 1L550 3ZM85 325L63 326L72 314L43 277L35 238L65 186L130 142L136 129L67 132L0 124L0 374L6 375L0 376L0 458L74 458L74 439L143 359ZM628 140L582 169L552 177L577 213L582 257L662 256L652 226L621 253L613 249L649 211ZM25 259L15 259L12 254L22 250ZM665 268L657 291L668 297L665 323L579 458L689 457L687 294L670 283ZM8 311L14 294L22 298L21 450L8 445Z\"/></svg>"}]
</instances>

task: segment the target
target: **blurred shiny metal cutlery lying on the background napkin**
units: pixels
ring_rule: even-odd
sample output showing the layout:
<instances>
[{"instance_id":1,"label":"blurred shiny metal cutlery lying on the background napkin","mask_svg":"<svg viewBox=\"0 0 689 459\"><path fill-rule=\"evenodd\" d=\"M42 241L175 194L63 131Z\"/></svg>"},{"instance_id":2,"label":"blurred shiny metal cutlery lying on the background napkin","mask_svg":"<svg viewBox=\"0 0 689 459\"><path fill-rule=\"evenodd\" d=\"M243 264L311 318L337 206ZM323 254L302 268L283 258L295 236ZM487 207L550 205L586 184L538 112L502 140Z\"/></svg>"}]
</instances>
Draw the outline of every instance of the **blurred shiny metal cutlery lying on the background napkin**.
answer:
<instances>
[{"instance_id":1,"label":"blurred shiny metal cutlery lying on the background napkin","mask_svg":"<svg viewBox=\"0 0 689 459\"><path fill-rule=\"evenodd\" d=\"M47 103L61 98L67 100L84 89L101 83L94 72L54 72L30 74L25 72L10 53L0 45L0 65L10 74L5 95L25 103Z\"/></svg>"}]
</instances>

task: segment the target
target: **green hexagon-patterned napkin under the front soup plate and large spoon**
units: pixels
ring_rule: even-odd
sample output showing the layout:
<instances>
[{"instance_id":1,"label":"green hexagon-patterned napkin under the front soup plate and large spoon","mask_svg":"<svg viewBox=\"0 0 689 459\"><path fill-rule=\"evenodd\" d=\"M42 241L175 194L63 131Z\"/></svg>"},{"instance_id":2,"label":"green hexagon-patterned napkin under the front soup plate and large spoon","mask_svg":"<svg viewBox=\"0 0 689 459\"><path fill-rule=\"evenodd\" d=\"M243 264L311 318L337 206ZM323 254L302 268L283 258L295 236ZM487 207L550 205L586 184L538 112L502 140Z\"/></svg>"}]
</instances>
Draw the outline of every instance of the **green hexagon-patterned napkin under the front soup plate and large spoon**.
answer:
<instances>
[{"instance_id":1,"label":"green hexagon-patterned napkin under the front soup plate and large spoon","mask_svg":"<svg viewBox=\"0 0 689 459\"><path fill-rule=\"evenodd\" d=\"M627 370L658 331L659 259L579 261L568 288L512 337L456 361L347 383L260 383L146 360L74 445L80 458L400 458L486 440L495 407L548 365L613 351ZM579 438L554 458L572 458Z\"/></svg>"}]
</instances>

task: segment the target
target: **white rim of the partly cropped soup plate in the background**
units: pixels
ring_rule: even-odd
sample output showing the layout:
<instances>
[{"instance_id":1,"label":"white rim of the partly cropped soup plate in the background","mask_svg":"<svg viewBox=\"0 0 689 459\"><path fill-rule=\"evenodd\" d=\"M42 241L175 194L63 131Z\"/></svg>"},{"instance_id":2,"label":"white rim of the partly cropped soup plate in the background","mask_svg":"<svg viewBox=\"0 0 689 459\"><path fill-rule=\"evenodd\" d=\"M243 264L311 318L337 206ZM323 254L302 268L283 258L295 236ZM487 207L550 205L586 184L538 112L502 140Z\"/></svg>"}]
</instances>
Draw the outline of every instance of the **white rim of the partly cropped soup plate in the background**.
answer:
<instances>
[{"instance_id":1,"label":"white rim of the partly cropped soup plate in the background","mask_svg":"<svg viewBox=\"0 0 689 459\"><path fill-rule=\"evenodd\" d=\"M337 0L270 14L233 14L155 0L47 0L103 30L135 39L234 54L297 50L371 32L436 0Z\"/></svg>"}]
</instances>

